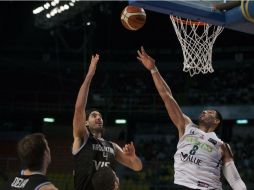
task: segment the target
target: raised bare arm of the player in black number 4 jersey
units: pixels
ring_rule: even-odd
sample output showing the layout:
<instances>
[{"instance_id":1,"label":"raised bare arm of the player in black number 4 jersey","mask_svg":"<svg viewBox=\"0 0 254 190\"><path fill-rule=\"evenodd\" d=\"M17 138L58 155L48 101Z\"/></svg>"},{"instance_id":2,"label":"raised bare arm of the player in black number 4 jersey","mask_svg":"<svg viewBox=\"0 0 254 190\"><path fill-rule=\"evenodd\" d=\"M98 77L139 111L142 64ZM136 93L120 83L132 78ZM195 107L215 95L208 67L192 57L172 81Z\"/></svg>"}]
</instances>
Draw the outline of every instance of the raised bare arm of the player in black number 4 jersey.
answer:
<instances>
[{"instance_id":1,"label":"raised bare arm of the player in black number 4 jersey","mask_svg":"<svg viewBox=\"0 0 254 190\"><path fill-rule=\"evenodd\" d=\"M87 97L89 93L89 87L91 80L95 74L96 66L99 61L99 55L92 56L91 63L85 77L83 84L81 85L78 93L78 97L75 104L75 112L73 117L73 151L79 149L83 138L88 137L88 130L85 127L86 113L85 108L87 104Z\"/></svg>"}]
</instances>

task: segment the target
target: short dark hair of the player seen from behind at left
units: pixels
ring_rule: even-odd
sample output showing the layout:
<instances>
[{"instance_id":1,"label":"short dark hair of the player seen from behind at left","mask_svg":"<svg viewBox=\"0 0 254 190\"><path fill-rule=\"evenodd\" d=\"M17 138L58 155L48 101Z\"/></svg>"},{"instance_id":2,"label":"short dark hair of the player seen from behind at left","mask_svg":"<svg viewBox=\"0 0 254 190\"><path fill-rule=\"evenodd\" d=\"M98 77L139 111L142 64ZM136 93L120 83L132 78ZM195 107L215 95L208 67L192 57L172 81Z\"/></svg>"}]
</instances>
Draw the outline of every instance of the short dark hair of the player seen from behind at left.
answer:
<instances>
[{"instance_id":1,"label":"short dark hair of the player seen from behind at left","mask_svg":"<svg viewBox=\"0 0 254 190\"><path fill-rule=\"evenodd\" d=\"M37 171L42 168L46 139L42 133L34 133L22 138L17 145L21 168Z\"/></svg>"}]
</instances>

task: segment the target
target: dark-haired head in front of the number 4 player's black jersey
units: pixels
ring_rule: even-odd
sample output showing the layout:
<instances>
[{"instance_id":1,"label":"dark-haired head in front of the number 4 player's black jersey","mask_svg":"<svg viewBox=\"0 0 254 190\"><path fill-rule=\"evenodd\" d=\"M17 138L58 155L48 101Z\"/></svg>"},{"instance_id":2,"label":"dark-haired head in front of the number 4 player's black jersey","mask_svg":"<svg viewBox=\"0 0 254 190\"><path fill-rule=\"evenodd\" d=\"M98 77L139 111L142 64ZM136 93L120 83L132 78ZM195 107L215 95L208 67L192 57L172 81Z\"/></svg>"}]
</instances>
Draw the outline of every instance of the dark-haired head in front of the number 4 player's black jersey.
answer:
<instances>
[{"instance_id":1,"label":"dark-haired head in front of the number 4 player's black jersey","mask_svg":"<svg viewBox=\"0 0 254 190\"><path fill-rule=\"evenodd\" d=\"M92 178L94 190L113 190L116 175L110 167L101 167Z\"/></svg>"}]
</instances>

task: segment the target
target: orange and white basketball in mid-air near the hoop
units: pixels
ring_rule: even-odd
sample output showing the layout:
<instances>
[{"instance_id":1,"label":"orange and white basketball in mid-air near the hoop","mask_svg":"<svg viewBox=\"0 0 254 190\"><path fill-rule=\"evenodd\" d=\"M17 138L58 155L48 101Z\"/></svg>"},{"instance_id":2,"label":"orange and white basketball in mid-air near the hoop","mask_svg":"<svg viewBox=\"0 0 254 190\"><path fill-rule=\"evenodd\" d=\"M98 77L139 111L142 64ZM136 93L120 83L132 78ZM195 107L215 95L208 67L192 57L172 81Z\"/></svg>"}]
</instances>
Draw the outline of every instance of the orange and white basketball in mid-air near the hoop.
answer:
<instances>
[{"instance_id":1,"label":"orange and white basketball in mid-air near the hoop","mask_svg":"<svg viewBox=\"0 0 254 190\"><path fill-rule=\"evenodd\" d=\"M140 29L146 22L145 10L131 5L126 6L121 13L121 22L128 30L136 31Z\"/></svg>"}]
</instances>

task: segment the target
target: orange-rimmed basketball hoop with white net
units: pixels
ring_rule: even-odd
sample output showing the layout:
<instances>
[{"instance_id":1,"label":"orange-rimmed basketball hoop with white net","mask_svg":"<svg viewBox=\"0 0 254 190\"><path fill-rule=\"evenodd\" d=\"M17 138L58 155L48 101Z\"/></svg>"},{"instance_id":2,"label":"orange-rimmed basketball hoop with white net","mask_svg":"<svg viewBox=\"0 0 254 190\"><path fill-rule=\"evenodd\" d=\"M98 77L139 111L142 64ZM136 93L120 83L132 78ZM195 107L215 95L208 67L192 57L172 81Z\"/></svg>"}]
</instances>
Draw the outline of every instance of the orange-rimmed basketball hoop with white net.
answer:
<instances>
[{"instance_id":1,"label":"orange-rimmed basketball hoop with white net","mask_svg":"<svg viewBox=\"0 0 254 190\"><path fill-rule=\"evenodd\" d=\"M212 66L213 44L223 31L222 26L170 15L183 51L183 71L195 74L214 72Z\"/></svg>"}]
</instances>

